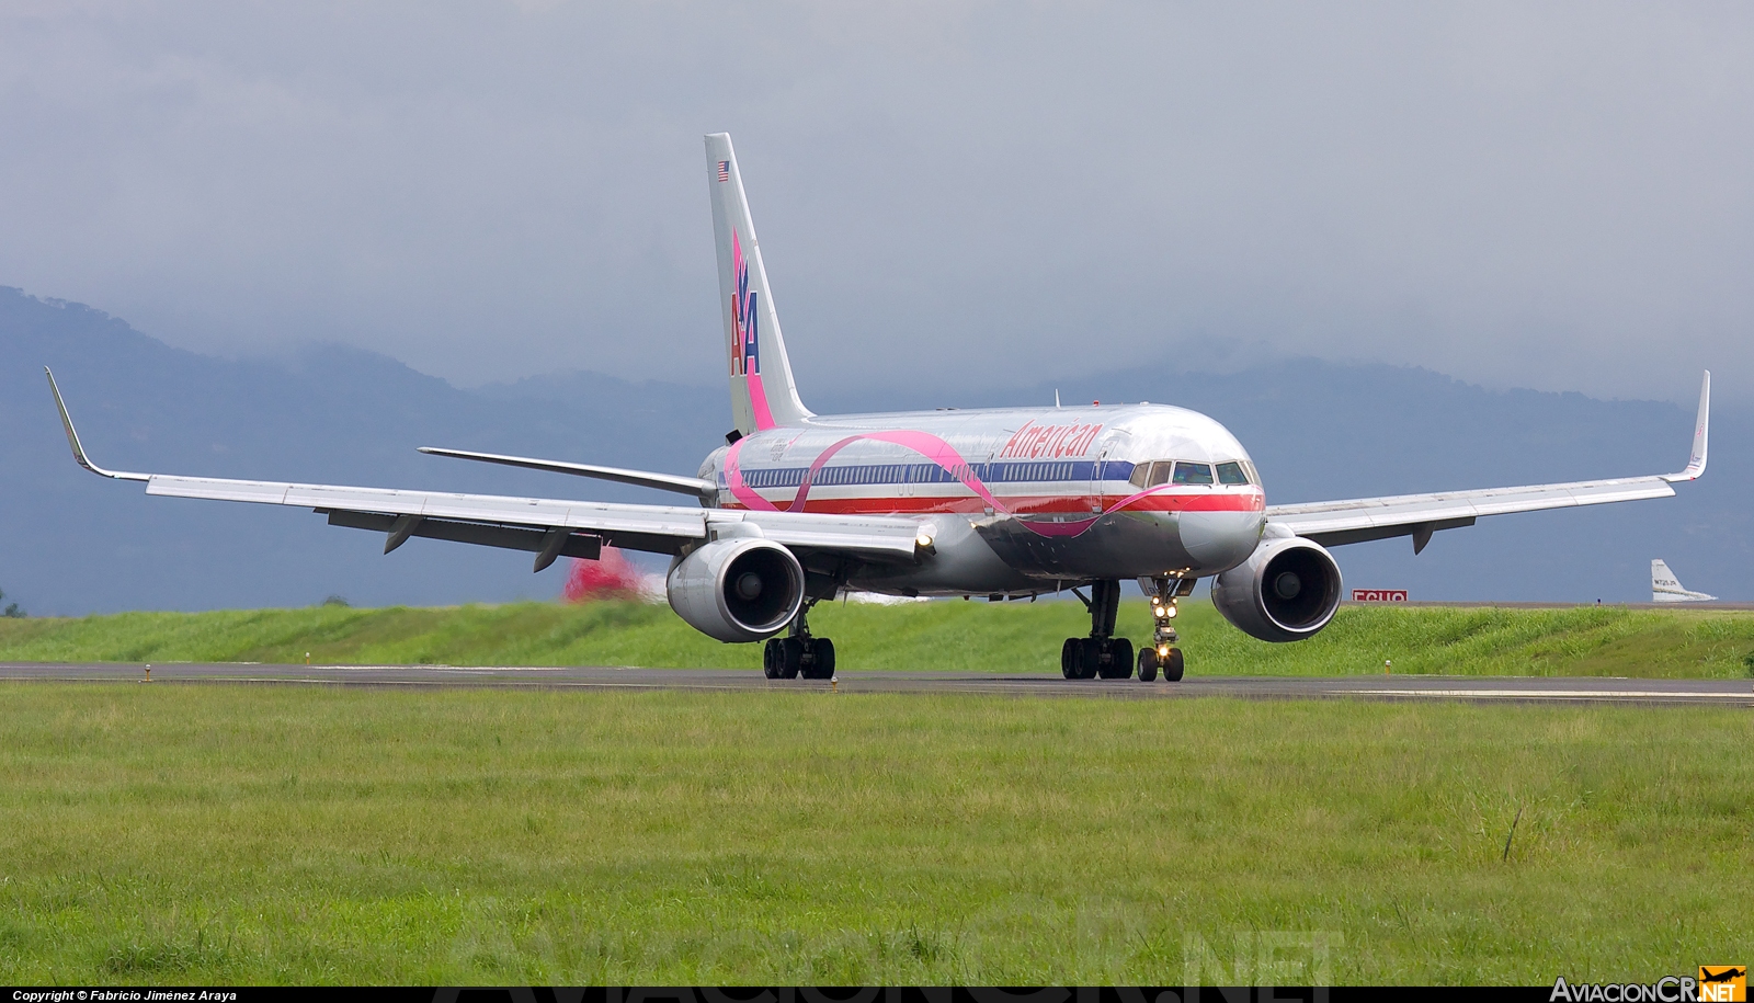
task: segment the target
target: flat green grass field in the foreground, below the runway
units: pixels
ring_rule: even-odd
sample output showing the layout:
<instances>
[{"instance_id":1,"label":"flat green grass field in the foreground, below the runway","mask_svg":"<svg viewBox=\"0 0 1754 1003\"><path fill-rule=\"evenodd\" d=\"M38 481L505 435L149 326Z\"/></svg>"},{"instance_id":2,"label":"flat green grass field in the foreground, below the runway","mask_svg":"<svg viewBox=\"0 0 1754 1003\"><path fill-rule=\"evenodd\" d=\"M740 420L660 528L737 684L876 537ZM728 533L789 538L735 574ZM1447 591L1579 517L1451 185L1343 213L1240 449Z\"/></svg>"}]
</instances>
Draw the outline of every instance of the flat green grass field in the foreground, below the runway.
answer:
<instances>
[{"instance_id":1,"label":"flat green grass field in the foreground, below the runway","mask_svg":"<svg viewBox=\"0 0 1754 1003\"><path fill-rule=\"evenodd\" d=\"M163 684L0 707L12 984L1551 984L1749 949L1745 712Z\"/></svg>"}]
</instances>

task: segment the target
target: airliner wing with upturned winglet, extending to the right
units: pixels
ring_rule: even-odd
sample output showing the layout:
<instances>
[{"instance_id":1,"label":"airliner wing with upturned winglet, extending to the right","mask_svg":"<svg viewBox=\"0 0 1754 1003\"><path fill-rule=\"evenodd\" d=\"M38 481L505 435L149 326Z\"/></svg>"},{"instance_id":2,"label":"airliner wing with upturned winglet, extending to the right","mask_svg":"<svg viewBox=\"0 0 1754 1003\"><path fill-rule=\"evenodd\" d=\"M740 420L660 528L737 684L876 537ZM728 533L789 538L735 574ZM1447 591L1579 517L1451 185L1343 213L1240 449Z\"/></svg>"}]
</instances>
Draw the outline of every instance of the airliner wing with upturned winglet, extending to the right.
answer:
<instances>
[{"instance_id":1,"label":"airliner wing with upturned winglet, extending to the right","mask_svg":"<svg viewBox=\"0 0 1754 1003\"><path fill-rule=\"evenodd\" d=\"M1268 505L1270 524L1307 537L1324 547L1412 537L1414 552L1424 551L1437 530L1473 526L1480 516L1605 505L1640 498L1668 498L1675 480L1694 480L1705 473L1707 428L1712 405L1712 373L1700 384L1700 412L1693 430L1693 452L1680 473L1649 477L1614 477L1608 480L1573 480L1568 484L1533 484L1524 487L1482 487L1475 491L1438 491L1433 494L1393 494L1384 498L1349 498L1301 505Z\"/></svg>"}]
</instances>

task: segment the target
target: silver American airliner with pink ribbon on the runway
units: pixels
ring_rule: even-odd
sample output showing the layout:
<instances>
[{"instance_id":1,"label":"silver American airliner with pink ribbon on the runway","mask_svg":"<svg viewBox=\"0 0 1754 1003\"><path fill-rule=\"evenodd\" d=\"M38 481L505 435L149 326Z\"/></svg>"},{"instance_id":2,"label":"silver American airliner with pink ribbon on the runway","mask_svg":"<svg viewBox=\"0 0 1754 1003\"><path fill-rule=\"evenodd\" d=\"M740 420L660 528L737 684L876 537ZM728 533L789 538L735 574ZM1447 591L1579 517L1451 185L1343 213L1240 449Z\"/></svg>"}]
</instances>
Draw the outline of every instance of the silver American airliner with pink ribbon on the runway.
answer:
<instances>
[{"instance_id":1,"label":"silver American airliner with pink ribbon on the runway","mask_svg":"<svg viewBox=\"0 0 1754 1003\"><path fill-rule=\"evenodd\" d=\"M538 572L607 545L667 554L675 614L721 642L765 640L770 679L835 675L833 640L807 617L844 591L995 601L1072 591L1091 630L1065 640L1061 673L1147 682L1182 679L1177 601L1198 579L1212 579L1212 603L1244 633L1303 640L1340 605L1330 547L1412 537L1417 554L1433 533L1484 516L1665 498L1705 473L1710 372L1680 473L1298 505L1266 505L1223 424L1161 403L817 416L793 381L731 137L705 142L735 424L724 445L695 477L421 447L670 491L693 507L105 470L47 373L74 459L142 480L147 494L312 509L332 526L384 533L386 554L412 537L530 551ZM1144 589L1154 621L1137 658L1116 637L1124 580Z\"/></svg>"}]
</instances>

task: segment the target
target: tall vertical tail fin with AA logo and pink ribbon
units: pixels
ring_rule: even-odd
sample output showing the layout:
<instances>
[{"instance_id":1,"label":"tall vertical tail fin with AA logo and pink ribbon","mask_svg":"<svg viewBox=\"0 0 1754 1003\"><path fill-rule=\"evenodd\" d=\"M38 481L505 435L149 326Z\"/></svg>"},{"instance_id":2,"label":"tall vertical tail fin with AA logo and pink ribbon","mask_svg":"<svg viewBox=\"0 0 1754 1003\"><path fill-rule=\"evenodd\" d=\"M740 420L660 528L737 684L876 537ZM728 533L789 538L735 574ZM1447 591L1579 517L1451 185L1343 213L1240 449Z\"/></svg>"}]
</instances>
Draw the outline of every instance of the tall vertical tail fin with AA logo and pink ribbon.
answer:
<instances>
[{"instance_id":1,"label":"tall vertical tail fin with AA logo and pink ribbon","mask_svg":"<svg viewBox=\"0 0 1754 1003\"><path fill-rule=\"evenodd\" d=\"M810 417L810 410L798 400L798 386L791 379L730 133L707 137L707 186L712 189L712 235L719 249L719 309L730 345L731 417L744 435L796 424Z\"/></svg>"}]
</instances>

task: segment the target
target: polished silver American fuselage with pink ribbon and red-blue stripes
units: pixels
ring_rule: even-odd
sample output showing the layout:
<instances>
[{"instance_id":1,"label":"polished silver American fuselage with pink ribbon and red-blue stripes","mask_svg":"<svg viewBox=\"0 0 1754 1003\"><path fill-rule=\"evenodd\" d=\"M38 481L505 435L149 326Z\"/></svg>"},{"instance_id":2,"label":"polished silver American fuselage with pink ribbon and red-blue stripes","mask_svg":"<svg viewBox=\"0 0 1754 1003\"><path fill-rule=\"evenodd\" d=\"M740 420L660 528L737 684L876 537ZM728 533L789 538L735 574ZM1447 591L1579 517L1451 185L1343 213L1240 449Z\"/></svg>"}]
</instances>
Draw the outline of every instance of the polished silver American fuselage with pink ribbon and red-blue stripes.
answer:
<instances>
[{"instance_id":1,"label":"polished silver American fuselage with pink ribbon and red-blue stripes","mask_svg":"<svg viewBox=\"0 0 1754 1003\"><path fill-rule=\"evenodd\" d=\"M1254 551L1265 519L1224 426L1145 403L812 417L714 451L700 475L723 509L917 519L933 540L917 565L845 570L852 587L898 594L1216 575Z\"/></svg>"}]
</instances>

